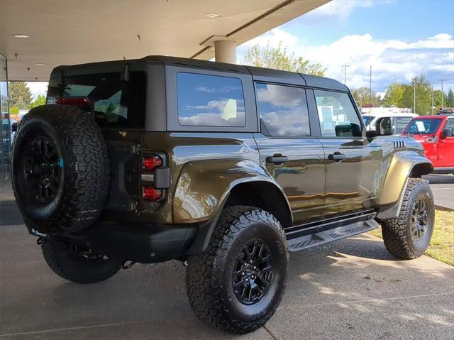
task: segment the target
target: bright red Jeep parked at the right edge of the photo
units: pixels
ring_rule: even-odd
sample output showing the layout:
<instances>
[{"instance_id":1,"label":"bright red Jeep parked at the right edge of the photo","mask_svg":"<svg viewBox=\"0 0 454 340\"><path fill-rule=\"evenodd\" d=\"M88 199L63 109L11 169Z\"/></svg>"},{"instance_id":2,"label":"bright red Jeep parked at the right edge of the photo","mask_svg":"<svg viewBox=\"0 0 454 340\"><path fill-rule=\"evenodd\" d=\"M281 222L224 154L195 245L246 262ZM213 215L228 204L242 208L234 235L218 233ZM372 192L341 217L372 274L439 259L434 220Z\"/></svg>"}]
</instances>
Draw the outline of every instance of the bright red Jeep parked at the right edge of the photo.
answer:
<instances>
[{"instance_id":1,"label":"bright red Jeep parked at the right edge of the photo","mask_svg":"<svg viewBox=\"0 0 454 340\"><path fill-rule=\"evenodd\" d=\"M435 172L454 174L454 115L411 119L402 136L413 137L424 147Z\"/></svg>"}]
</instances>

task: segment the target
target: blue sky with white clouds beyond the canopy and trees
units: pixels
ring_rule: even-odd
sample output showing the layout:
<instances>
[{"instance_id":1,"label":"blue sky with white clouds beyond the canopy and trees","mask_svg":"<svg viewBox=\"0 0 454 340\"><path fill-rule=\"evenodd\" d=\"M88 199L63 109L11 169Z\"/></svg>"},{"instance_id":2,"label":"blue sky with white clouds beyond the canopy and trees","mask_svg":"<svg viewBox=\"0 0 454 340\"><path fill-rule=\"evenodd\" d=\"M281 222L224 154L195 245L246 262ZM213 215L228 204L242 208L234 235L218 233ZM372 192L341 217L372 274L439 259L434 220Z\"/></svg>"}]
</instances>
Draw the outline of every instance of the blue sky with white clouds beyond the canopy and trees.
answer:
<instances>
[{"instance_id":1,"label":"blue sky with white clouds beyond the canopy and trees","mask_svg":"<svg viewBox=\"0 0 454 340\"><path fill-rule=\"evenodd\" d=\"M333 0L238 47L238 63L255 43L276 46L311 62L351 89L384 93L395 81L424 73L434 88L454 90L454 0ZM29 82L33 96L47 83Z\"/></svg>"}]
</instances>

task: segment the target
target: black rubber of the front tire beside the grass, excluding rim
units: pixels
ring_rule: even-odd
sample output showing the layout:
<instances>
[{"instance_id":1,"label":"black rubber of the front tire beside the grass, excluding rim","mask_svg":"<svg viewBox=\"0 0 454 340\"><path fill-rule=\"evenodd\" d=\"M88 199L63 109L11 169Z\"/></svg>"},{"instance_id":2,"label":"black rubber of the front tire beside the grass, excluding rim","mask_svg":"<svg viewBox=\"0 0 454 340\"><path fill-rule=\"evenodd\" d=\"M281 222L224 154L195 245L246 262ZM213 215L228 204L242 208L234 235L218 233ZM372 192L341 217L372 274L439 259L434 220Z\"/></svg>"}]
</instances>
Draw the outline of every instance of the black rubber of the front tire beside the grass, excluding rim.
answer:
<instances>
[{"instance_id":1,"label":"black rubber of the front tire beside the grass, excluding rim","mask_svg":"<svg viewBox=\"0 0 454 340\"><path fill-rule=\"evenodd\" d=\"M411 214L417 199L423 199L428 214L427 229L419 240L411 231ZM427 250L431 241L434 220L433 194L428 182L421 178L409 178L399 217L382 222L384 246L389 253L398 258L407 260L418 258Z\"/></svg>"}]
</instances>

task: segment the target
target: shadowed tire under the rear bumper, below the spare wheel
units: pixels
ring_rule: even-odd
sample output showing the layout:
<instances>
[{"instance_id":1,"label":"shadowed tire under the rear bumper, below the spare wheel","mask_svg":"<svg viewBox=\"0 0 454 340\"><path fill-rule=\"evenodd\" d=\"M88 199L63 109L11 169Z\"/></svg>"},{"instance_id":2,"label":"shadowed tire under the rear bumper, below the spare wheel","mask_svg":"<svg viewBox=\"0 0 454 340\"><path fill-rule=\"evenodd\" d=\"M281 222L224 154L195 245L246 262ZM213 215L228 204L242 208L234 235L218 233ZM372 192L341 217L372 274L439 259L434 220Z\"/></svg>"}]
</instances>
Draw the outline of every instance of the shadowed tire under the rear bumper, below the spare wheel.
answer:
<instances>
[{"instance_id":1,"label":"shadowed tire under the rear bumper, below the spare wheel","mask_svg":"<svg viewBox=\"0 0 454 340\"><path fill-rule=\"evenodd\" d=\"M73 283L98 283L115 275L123 261L118 258L87 259L71 250L66 243L46 240L41 245L50 269Z\"/></svg>"}]
</instances>

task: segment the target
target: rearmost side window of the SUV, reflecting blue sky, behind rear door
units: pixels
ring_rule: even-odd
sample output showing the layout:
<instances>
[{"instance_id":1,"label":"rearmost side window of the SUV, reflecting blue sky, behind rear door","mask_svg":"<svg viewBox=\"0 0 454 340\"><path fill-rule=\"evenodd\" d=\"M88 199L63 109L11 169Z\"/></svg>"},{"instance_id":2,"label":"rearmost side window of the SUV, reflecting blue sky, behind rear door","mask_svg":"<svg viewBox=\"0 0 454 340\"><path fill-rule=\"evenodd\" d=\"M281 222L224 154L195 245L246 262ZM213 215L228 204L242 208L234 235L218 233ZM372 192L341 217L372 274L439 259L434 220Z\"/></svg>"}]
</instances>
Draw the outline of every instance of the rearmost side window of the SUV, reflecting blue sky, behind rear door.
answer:
<instances>
[{"instance_id":1,"label":"rearmost side window of the SUV, reflecting blue sky, behind rear door","mask_svg":"<svg viewBox=\"0 0 454 340\"><path fill-rule=\"evenodd\" d=\"M177 99L180 125L246 125L243 84L238 78L178 72Z\"/></svg>"}]
</instances>

